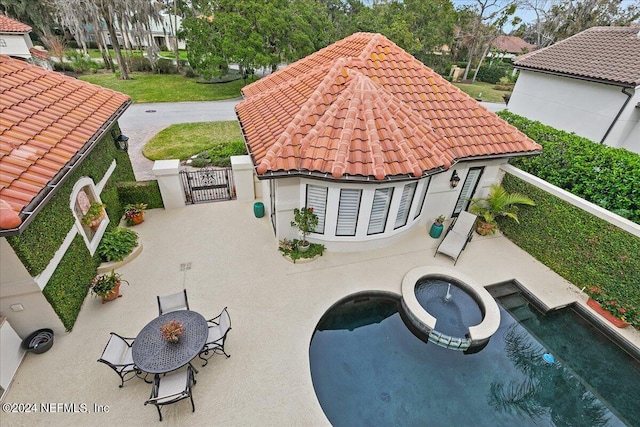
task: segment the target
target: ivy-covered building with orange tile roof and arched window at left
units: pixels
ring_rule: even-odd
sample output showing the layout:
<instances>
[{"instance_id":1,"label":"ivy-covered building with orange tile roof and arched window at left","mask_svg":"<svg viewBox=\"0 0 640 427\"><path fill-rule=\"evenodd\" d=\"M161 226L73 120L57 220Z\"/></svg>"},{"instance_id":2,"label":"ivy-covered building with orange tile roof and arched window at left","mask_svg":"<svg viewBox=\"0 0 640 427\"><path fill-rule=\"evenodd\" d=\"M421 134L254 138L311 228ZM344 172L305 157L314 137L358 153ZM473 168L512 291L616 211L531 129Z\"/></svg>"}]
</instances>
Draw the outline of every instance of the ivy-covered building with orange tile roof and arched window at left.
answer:
<instances>
[{"instance_id":1,"label":"ivy-covered building with orange tile roof and arched window at left","mask_svg":"<svg viewBox=\"0 0 640 427\"><path fill-rule=\"evenodd\" d=\"M133 180L117 124L130 104L121 93L0 55L0 316L22 338L39 328L61 333L75 321L49 301L70 304L75 293L81 304L95 275L115 184ZM81 222L91 201L107 204L96 230Z\"/></svg>"}]
</instances>

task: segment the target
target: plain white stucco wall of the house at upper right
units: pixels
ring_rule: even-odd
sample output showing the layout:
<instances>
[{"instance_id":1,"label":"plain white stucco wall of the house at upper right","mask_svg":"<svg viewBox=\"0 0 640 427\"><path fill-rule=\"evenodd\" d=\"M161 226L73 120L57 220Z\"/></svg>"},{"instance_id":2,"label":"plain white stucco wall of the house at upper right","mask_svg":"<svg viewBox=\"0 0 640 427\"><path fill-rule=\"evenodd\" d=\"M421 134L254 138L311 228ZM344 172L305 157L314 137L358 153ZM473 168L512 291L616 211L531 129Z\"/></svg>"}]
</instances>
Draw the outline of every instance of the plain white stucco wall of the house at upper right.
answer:
<instances>
[{"instance_id":1,"label":"plain white stucco wall of the house at upper right","mask_svg":"<svg viewBox=\"0 0 640 427\"><path fill-rule=\"evenodd\" d=\"M522 70L508 109L600 142L626 100L619 86ZM607 137L608 145L640 152L640 109L635 108L638 102L640 94L636 90Z\"/></svg>"}]
</instances>

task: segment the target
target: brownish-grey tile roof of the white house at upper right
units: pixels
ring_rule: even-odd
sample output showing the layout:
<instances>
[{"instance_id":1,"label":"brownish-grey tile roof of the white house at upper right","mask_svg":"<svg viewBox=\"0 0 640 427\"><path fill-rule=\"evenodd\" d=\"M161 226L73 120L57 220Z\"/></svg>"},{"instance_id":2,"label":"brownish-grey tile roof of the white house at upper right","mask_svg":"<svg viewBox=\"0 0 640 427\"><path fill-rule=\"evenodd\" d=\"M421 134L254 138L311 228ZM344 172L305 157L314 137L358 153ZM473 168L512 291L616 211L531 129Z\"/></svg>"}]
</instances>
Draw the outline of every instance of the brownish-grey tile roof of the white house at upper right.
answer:
<instances>
[{"instance_id":1,"label":"brownish-grey tile roof of the white house at upper right","mask_svg":"<svg viewBox=\"0 0 640 427\"><path fill-rule=\"evenodd\" d=\"M640 28L593 27L524 55L519 68L640 86Z\"/></svg>"}]
</instances>

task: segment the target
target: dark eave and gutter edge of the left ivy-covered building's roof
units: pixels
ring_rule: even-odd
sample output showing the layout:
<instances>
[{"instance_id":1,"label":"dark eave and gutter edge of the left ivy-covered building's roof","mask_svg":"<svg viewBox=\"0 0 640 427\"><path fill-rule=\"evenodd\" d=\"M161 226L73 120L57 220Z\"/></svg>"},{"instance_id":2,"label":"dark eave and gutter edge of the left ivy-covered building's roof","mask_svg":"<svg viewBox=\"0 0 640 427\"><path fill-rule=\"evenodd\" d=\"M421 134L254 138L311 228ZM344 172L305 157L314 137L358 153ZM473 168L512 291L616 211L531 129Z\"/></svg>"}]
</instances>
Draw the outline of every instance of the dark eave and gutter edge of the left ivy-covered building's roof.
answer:
<instances>
[{"instance_id":1,"label":"dark eave and gutter edge of the left ivy-covered building's roof","mask_svg":"<svg viewBox=\"0 0 640 427\"><path fill-rule=\"evenodd\" d=\"M22 223L17 228L11 228L6 230L0 230L0 237L10 237L22 234L24 230L29 226L35 216L44 208L44 206L51 200L51 198L57 193L60 185L62 185L71 175L73 171L82 163L84 157L86 157L96 146L98 141L109 131L111 126L118 121L120 116L131 105L131 99L122 104L116 112L104 122L98 131L87 141L86 144L67 162L67 164L54 175L53 178L47 183L47 185L38 192L38 194L27 204L19 216Z\"/></svg>"}]
</instances>

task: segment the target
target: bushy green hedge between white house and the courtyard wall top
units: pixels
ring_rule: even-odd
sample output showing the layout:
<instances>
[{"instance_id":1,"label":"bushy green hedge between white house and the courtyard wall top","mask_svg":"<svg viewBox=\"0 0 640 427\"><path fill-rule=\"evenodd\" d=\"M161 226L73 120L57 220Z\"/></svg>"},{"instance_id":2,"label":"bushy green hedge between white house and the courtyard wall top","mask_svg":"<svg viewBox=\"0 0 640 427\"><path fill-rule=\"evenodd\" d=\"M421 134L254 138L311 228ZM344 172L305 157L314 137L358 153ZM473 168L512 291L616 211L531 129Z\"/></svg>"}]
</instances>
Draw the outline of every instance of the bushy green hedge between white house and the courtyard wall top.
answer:
<instances>
[{"instance_id":1,"label":"bushy green hedge between white house and the courtyard wall top","mask_svg":"<svg viewBox=\"0 0 640 427\"><path fill-rule=\"evenodd\" d=\"M543 147L541 155L511 164L640 224L640 155L508 111L498 115Z\"/></svg>"}]
</instances>

